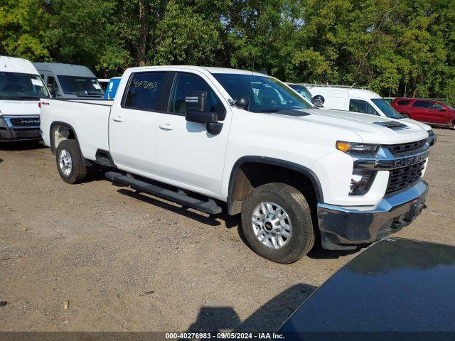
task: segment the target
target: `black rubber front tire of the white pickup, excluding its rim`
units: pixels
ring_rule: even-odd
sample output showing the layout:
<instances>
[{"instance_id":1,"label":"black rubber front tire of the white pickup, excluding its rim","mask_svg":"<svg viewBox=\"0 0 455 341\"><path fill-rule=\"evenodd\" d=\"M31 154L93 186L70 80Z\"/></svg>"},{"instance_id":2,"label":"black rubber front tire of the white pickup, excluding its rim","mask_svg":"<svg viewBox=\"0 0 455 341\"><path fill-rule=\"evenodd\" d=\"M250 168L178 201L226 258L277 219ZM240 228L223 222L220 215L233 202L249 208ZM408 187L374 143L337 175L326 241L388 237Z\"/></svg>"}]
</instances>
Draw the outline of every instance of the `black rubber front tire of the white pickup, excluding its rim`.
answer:
<instances>
[{"instance_id":1,"label":"black rubber front tire of the white pickup, excluding its rim","mask_svg":"<svg viewBox=\"0 0 455 341\"><path fill-rule=\"evenodd\" d=\"M291 220L291 237L280 249L267 247L255 235L252 214L261 202L275 202L287 212ZM243 203L242 231L257 254L277 263L294 263L314 246L314 227L308 202L299 190L285 183L268 183L255 188L248 195Z\"/></svg>"}]
</instances>

